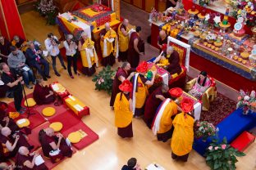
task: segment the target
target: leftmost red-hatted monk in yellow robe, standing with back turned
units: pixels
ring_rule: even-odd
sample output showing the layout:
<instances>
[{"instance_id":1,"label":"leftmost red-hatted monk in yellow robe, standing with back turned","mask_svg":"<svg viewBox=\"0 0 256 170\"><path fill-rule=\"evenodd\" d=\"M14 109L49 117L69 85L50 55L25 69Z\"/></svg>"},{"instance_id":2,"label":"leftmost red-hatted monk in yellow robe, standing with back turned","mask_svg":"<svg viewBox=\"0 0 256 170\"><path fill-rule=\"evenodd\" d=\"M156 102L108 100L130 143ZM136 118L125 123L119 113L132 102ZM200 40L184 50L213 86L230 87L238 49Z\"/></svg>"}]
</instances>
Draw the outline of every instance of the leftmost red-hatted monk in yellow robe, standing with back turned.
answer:
<instances>
[{"instance_id":1,"label":"leftmost red-hatted monk in yellow robe, standing with back turned","mask_svg":"<svg viewBox=\"0 0 256 170\"><path fill-rule=\"evenodd\" d=\"M132 132L132 100L129 93L132 91L132 84L129 80L123 81L119 86L121 92L117 93L114 103L115 125L117 134L122 138L133 137Z\"/></svg>"}]
</instances>

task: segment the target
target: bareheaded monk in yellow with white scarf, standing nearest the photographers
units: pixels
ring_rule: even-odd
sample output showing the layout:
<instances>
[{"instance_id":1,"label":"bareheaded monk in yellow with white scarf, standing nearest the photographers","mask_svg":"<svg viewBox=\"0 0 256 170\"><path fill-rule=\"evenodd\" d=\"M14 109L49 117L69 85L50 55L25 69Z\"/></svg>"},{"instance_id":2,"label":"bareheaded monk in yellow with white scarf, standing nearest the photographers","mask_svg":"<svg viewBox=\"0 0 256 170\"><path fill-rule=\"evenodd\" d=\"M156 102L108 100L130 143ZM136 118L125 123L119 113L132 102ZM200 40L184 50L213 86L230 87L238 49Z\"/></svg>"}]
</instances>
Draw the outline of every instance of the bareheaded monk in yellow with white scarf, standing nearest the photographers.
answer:
<instances>
[{"instance_id":1,"label":"bareheaded monk in yellow with white scarf, standing nearest the photographers","mask_svg":"<svg viewBox=\"0 0 256 170\"><path fill-rule=\"evenodd\" d=\"M98 67L98 56L94 48L94 41L92 41L85 32L81 34L78 50L80 51L83 63L82 72L85 75L91 76L96 71L95 67Z\"/></svg>"}]
</instances>

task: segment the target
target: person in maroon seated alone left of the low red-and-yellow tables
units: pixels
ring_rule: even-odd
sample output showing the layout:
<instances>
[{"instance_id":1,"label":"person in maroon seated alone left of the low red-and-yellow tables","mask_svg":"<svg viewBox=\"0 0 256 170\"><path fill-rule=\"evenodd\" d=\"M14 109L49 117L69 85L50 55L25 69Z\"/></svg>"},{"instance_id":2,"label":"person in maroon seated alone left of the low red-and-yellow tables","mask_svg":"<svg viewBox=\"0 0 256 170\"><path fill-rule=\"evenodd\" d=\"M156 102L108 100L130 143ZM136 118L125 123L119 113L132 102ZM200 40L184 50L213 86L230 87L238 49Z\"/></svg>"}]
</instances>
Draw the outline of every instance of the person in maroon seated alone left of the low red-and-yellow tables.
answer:
<instances>
[{"instance_id":1,"label":"person in maroon seated alone left of the low red-and-yellow tables","mask_svg":"<svg viewBox=\"0 0 256 170\"><path fill-rule=\"evenodd\" d=\"M38 78L34 86L33 98L37 105L50 104L55 101L55 96L50 87L44 86L43 79Z\"/></svg>"}]
</instances>

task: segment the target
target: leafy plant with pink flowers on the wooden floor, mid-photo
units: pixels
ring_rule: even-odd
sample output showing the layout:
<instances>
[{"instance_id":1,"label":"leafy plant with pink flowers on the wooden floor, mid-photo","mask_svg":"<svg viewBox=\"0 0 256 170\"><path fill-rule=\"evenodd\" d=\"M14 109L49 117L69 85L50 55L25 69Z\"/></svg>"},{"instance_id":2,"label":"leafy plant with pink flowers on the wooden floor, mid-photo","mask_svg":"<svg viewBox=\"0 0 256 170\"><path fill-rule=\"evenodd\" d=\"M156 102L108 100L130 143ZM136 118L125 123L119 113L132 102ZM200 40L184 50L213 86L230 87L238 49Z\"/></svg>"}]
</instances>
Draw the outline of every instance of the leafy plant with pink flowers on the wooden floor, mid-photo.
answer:
<instances>
[{"instance_id":1,"label":"leafy plant with pink flowers on the wooden floor, mid-photo","mask_svg":"<svg viewBox=\"0 0 256 170\"><path fill-rule=\"evenodd\" d=\"M95 90L98 91L106 91L109 95L112 92L112 83L113 83L113 76L115 76L116 71L111 69L110 65L103 68L98 75L94 75L92 79L95 82Z\"/></svg>"}]
</instances>

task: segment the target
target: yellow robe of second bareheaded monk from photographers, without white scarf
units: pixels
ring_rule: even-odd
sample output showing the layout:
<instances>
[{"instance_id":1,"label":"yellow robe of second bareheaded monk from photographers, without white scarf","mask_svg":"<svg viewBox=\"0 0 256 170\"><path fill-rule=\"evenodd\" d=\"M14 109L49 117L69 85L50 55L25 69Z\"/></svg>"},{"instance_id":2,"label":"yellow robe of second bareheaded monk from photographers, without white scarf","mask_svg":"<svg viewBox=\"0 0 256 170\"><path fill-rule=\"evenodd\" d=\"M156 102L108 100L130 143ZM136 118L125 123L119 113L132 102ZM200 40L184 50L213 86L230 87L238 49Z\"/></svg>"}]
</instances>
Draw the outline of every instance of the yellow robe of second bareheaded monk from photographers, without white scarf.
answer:
<instances>
[{"instance_id":1,"label":"yellow robe of second bareheaded monk from photographers, without white scarf","mask_svg":"<svg viewBox=\"0 0 256 170\"><path fill-rule=\"evenodd\" d=\"M115 48L113 47L113 43L112 42L108 42L107 41L107 54L104 55L104 39L106 38L115 38ZM109 29L107 31L107 33L104 35L103 37L103 40L100 41L100 47L101 47L101 50L103 52L103 57L107 57L109 56L112 52L115 56L116 52L117 52L117 33L115 30L113 29Z\"/></svg>"}]
</instances>

